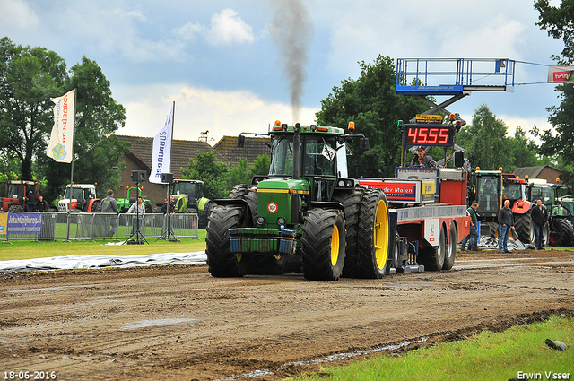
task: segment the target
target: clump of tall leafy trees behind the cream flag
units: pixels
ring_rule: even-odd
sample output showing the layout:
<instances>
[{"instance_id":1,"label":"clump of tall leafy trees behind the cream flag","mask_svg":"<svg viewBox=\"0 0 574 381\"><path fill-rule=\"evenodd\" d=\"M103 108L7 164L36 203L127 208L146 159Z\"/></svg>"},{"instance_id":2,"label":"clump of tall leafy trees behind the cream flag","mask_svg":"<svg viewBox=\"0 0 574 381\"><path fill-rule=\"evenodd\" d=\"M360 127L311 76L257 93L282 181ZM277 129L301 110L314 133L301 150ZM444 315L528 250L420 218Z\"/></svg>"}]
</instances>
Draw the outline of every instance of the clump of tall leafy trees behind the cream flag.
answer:
<instances>
[{"instance_id":1,"label":"clump of tall leafy trees behind the cream flag","mask_svg":"<svg viewBox=\"0 0 574 381\"><path fill-rule=\"evenodd\" d=\"M48 180L48 201L69 182L71 164L45 154L53 125L50 98L76 89L74 181L98 183L99 190L119 181L118 157L126 145L113 136L124 126L125 109L111 97L100 67L85 56L66 70L64 60L46 48L14 45L0 39L0 154L13 152L20 176Z\"/></svg>"}]
</instances>

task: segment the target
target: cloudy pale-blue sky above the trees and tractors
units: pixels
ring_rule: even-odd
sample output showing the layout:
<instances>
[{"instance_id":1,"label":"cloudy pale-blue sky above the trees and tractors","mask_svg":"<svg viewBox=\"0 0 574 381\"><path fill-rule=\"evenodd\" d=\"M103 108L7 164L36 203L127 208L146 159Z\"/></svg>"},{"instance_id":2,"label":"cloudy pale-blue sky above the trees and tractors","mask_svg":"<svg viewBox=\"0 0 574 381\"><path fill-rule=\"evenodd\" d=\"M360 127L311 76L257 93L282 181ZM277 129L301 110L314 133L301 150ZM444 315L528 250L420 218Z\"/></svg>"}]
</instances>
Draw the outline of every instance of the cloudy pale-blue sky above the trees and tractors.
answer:
<instances>
[{"instance_id":1,"label":"cloudy pale-blue sky above the trees and tractors","mask_svg":"<svg viewBox=\"0 0 574 381\"><path fill-rule=\"evenodd\" d=\"M300 13L289 17L283 7L299 1L304 4ZM117 134L155 135L172 101L176 139L197 140L209 131L213 144L226 134L265 133L276 119L310 124L333 87L358 77L357 62L372 63L378 55L516 60L520 85L514 92L474 91L448 107L470 122L484 103L512 132L516 126L549 128L546 108L558 103L553 86L544 82L546 65L554 65L551 55L559 54L562 44L535 25L533 4L0 0L0 36L54 50L68 66L82 56L96 61L114 99L126 108L126 127ZM292 120L291 82L285 74L290 60L281 48L282 30L290 29L304 42L294 44L305 69L300 78L307 78L296 91L299 120Z\"/></svg>"}]
</instances>

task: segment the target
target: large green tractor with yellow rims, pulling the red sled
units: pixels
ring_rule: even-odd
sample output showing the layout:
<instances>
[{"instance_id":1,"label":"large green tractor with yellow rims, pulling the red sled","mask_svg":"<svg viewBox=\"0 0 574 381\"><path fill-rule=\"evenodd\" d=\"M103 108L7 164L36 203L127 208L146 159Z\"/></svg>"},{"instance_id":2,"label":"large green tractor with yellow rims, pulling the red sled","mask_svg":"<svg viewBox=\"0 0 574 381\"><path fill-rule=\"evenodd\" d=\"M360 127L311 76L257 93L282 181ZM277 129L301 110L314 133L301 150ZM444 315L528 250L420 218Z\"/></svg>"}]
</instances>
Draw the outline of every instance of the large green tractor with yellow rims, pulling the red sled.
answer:
<instances>
[{"instance_id":1,"label":"large green tractor with yellow rims, pulling the red sled","mask_svg":"<svg viewBox=\"0 0 574 381\"><path fill-rule=\"evenodd\" d=\"M350 129L354 124L350 124ZM362 135L336 127L287 126L270 132L269 175L214 200L206 254L214 277L302 271L315 281L382 277L393 259L387 197L348 178L346 145ZM244 141L239 135L238 145Z\"/></svg>"}]
</instances>

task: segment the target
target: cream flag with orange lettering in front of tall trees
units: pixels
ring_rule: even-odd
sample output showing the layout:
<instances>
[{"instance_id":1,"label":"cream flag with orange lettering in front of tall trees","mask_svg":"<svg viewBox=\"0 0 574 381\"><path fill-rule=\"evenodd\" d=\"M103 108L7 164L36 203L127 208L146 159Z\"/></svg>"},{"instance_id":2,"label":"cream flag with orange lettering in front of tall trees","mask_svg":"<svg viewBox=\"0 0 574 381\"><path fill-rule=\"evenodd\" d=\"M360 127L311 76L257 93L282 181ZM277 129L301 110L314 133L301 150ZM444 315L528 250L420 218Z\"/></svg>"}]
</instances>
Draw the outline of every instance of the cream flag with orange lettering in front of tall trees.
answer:
<instances>
[{"instance_id":1,"label":"cream flag with orange lettering in front of tall trees","mask_svg":"<svg viewBox=\"0 0 574 381\"><path fill-rule=\"evenodd\" d=\"M54 126L46 154L58 162L71 163L74 157L75 90L50 100L56 103L56 106L54 106Z\"/></svg>"}]
</instances>

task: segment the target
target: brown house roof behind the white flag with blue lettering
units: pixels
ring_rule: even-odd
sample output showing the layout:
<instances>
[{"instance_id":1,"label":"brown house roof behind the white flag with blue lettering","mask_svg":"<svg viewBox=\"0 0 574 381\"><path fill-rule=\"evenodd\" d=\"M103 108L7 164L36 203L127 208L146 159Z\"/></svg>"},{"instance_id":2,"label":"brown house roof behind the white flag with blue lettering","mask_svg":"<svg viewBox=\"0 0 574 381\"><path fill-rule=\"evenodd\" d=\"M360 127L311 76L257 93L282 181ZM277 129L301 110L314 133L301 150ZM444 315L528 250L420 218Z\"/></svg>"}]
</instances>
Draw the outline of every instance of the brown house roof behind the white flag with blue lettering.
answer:
<instances>
[{"instance_id":1,"label":"brown house roof behind the white flag with blue lettering","mask_svg":"<svg viewBox=\"0 0 574 381\"><path fill-rule=\"evenodd\" d=\"M144 168L152 169L152 137L117 135L117 138L132 144L130 152L126 152L126 154L140 162ZM213 152L218 160L222 160L220 153L213 150L213 147L208 143L174 139L171 143L171 173L175 177L181 177L180 168L187 168L189 159L196 160L197 152Z\"/></svg>"}]
</instances>

